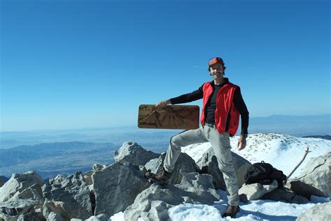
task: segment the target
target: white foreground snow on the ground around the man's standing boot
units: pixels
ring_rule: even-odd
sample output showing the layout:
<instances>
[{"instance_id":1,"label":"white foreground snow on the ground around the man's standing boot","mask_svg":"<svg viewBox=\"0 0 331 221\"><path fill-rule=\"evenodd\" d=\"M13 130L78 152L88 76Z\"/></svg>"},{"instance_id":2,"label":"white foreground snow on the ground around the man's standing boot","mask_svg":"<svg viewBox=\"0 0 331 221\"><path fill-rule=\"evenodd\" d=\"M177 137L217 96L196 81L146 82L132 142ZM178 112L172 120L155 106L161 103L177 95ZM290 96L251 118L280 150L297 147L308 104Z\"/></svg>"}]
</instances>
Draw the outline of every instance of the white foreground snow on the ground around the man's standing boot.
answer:
<instances>
[{"instance_id":1,"label":"white foreground snow on the ground around the man's standing boot","mask_svg":"<svg viewBox=\"0 0 331 221\"><path fill-rule=\"evenodd\" d=\"M168 215L173 221L216 221L216 220L295 220L308 208L330 201L329 197L313 197L314 202L309 204L288 204L281 201L255 200L240 203L240 213L237 218L222 218L226 211L226 192L218 190L224 200L216 201L212 206L205 204L181 204L169 209ZM113 215L108 221L125 221L124 213ZM139 221L142 221L140 219Z\"/></svg>"}]
</instances>

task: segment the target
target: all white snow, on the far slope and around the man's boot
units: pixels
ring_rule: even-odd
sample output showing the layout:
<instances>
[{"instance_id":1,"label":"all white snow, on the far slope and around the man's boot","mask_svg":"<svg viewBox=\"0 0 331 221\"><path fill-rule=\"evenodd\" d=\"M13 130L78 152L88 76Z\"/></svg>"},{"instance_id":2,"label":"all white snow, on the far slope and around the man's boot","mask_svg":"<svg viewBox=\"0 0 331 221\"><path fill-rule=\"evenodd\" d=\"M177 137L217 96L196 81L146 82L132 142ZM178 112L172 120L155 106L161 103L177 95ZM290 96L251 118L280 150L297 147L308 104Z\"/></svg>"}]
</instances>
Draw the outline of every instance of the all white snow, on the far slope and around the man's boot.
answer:
<instances>
[{"instance_id":1,"label":"all white snow, on the far slope and around the man's boot","mask_svg":"<svg viewBox=\"0 0 331 221\"><path fill-rule=\"evenodd\" d=\"M274 133L253 134L247 138L247 147L237 151L239 137L230 139L232 151L246 158L251 163L264 160L277 169L281 169L288 175L304 155L306 146L309 153L294 176L299 175L310 158L324 155L331 151L331 141L317 138L301 138ZM182 148L194 160L201 158L203 153L211 148L209 143L192 144ZM298 215L307 211L311 206L330 201L330 197L311 197L309 204L288 204L281 201L256 200L248 203L240 203L240 213L236 219L222 218L221 214L226 210L226 192L218 190L223 200L216 201L212 206L204 204L181 204L169 209L168 214L173 221L213 221L213 220L295 220ZM108 221L124 221L124 213L113 215ZM140 219L142 221L142 219Z\"/></svg>"}]
</instances>

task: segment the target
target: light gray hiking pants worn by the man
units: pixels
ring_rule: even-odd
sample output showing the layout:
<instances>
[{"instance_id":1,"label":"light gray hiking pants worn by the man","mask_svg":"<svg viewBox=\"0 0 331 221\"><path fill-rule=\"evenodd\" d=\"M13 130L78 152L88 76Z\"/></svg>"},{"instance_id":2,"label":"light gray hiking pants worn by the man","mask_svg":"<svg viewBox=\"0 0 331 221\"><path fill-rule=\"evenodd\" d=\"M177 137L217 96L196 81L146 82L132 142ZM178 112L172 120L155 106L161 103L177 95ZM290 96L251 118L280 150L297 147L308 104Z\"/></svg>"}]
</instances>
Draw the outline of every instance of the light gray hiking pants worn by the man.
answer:
<instances>
[{"instance_id":1,"label":"light gray hiking pants worn by the man","mask_svg":"<svg viewBox=\"0 0 331 221\"><path fill-rule=\"evenodd\" d=\"M223 173L228 194L228 204L239 205L238 181L230 151L230 136L228 132L219 134L214 125L200 126L196 130L186 130L170 139L170 145L165 155L163 167L167 172L172 172L181 153L181 147L190 144L209 142L219 162L219 169Z\"/></svg>"}]
</instances>

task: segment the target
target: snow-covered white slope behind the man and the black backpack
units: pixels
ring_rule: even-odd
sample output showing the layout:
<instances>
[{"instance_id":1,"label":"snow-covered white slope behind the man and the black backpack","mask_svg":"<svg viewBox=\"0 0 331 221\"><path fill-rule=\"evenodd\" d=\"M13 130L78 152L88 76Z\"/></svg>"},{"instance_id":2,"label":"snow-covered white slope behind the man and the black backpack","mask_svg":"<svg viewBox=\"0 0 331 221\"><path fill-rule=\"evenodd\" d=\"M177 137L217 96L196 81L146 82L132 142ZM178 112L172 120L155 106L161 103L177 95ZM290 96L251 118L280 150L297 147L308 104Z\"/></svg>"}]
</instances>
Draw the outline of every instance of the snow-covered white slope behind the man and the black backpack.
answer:
<instances>
[{"instance_id":1,"label":"snow-covered white slope behind the man and the black backpack","mask_svg":"<svg viewBox=\"0 0 331 221\"><path fill-rule=\"evenodd\" d=\"M304 150L309 146L307 158L302 162L302 165L294 172L291 178L300 175L310 158L324 155L327 151L331 151L331 140L318 138L302 138L293 137L290 135L281 135L274 133L259 133L249 135L247 137L247 146L242 151L237 150L238 136L230 138L231 151L237 153L249 162L261 162L262 160L270 163L275 168L280 169L286 174L294 169L304 155ZM207 143L192 144L182 148L182 152L187 153L198 160L203 153L212 146Z\"/></svg>"}]
</instances>

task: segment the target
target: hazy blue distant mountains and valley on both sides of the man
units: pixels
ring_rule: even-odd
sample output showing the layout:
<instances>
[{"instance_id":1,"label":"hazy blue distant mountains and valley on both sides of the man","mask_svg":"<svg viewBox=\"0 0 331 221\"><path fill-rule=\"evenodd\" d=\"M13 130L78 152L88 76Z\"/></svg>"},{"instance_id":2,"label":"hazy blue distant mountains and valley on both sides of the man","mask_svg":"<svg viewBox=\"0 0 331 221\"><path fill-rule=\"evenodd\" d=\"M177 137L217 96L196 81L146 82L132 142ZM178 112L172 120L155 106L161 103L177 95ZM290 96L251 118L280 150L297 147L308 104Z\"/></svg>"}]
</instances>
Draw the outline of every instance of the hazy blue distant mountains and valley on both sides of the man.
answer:
<instances>
[{"instance_id":1,"label":"hazy blue distant mountains and valley on both sides of the man","mask_svg":"<svg viewBox=\"0 0 331 221\"><path fill-rule=\"evenodd\" d=\"M251 118L249 134L271 132L326 140L330 139L330 125L330 114L273 115ZM0 175L10 177L12 173L27 172L31 169L43 178L61 173L71 174L77 170L87 172L94 163L112 164L114 152L124 142L137 142L149 151L161 153L168 148L170 137L181 131L128 127L0 132ZM251 144L250 137L248 142ZM253 145L260 144L253 142Z\"/></svg>"}]
</instances>

